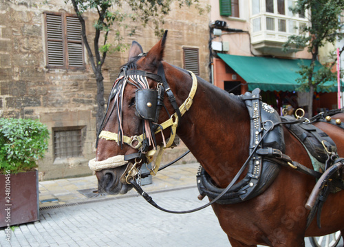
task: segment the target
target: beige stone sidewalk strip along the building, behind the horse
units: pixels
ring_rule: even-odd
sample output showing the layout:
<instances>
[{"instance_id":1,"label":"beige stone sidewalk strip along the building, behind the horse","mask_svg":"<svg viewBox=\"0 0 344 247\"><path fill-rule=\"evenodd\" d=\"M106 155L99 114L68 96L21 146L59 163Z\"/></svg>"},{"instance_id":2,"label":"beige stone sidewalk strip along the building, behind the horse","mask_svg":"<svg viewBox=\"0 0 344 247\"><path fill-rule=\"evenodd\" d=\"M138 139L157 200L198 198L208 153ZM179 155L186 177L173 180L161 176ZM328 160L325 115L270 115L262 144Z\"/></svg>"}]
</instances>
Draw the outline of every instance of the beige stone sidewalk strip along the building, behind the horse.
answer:
<instances>
[{"instance_id":1,"label":"beige stone sidewalk strip along the building, behind the horse","mask_svg":"<svg viewBox=\"0 0 344 247\"><path fill-rule=\"evenodd\" d=\"M144 185L142 188L147 193L151 193L194 187L198 166L198 163L172 165L152 176L151 184ZM97 188L96 175L39 182L39 206L44 209L63 204L87 203L94 200L108 200L112 197L137 195L133 189L125 195L99 195L93 193Z\"/></svg>"}]
</instances>

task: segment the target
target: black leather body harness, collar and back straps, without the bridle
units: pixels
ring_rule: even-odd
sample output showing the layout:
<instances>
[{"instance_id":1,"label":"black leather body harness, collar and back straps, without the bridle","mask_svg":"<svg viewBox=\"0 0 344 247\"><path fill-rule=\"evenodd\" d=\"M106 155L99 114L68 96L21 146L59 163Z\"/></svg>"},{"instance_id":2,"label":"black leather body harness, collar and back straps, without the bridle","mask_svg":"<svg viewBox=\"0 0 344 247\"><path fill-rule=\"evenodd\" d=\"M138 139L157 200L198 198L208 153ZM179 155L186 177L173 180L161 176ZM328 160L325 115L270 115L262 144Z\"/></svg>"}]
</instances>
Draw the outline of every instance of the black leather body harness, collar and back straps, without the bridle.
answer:
<instances>
[{"instance_id":1,"label":"black leather body harness, collar and back straps, without the bridle","mask_svg":"<svg viewBox=\"0 0 344 247\"><path fill-rule=\"evenodd\" d=\"M255 89L252 94L246 93L241 96L250 114L250 153L254 153L248 166L248 173L244 179L227 190L213 184L211 177L200 166L197 172L199 199L202 200L204 196L208 196L213 200L220 193L226 191L221 199L217 200L217 203L236 204L250 200L268 188L275 180L280 166L291 167L312 175L318 180L305 207L310 209L307 226L310 225L317 213L317 224L320 228L321 210L327 196L330 192L335 193L344 189L344 159L338 157L336 144L330 136L311 124L317 120L330 122L330 114L321 113L311 120L302 118L303 116L298 116L298 119L290 116L280 118L272 107L261 102L259 92L259 89ZM331 114L339 112L343 112L343 109L332 111ZM264 125L267 122L274 126L272 130L265 129ZM338 120L332 120L330 123L340 126ZM281 125L285 125L303 144L310 155L314 170L292 161L288 155L284 154L285 144ZM343 129L343 127L341 128ZM269 133L261 138L264 131ZM255 149L257 144L259 147Z\"/></svg>"}]
</instances>

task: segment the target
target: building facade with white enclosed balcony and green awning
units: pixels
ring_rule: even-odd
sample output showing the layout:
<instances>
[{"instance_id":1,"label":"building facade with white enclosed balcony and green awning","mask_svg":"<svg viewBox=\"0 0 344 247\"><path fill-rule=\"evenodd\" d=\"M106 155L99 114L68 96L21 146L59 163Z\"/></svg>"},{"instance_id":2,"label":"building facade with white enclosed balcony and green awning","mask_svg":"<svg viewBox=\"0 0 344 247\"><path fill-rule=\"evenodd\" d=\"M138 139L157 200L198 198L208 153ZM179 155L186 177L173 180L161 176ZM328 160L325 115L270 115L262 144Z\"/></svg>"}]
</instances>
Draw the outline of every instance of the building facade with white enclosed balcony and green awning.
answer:
<instances>
[{"instance_id":1,"label":"building facade with white enclosed balcony and green awning","mask_svg":"<svg viewBox=\"0 0 344 247\"><path fill-rule=\"evenodd\" d=\"M211 59L213 84L234 94L255 87L262 89L266 103L307 108L308 94L297 92L300 63L311 58L305 49L282 51L288 36L310 25L309 14L293 14L295 0L211 1ZM319 63L318 66L321 66ZM332 93L334 94L334 93ZM319 92L314 108L336 107L334 95ZM307 110L307 109L306 109Z\"/></svg>"}]
</instances>

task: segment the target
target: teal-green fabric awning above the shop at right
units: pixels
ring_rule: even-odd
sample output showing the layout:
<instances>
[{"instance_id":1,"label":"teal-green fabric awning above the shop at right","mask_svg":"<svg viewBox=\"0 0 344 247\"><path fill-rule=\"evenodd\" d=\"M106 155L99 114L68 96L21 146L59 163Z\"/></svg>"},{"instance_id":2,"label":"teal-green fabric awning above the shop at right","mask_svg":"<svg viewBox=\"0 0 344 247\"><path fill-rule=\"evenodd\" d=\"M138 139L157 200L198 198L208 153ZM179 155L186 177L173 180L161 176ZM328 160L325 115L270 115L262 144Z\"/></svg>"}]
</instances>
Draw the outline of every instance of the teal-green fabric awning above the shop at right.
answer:
<instances>
[{"instance_id":1,"label":"teal-green fabric awning above the shop at right","mask_svg":"<svg viewBox=\"0 0 344 247\"><path fill-rule=\"evenodd\" d=\"M310 59L265 58L220 53L217 55L246 80L250 91L256 87L263 91L298 91L300 86L297 83L297 78L300 78L300 74L297 73L300 69L299 65L310 65ZM316 61L315 70L320 69L321 66ZM329 87L323 92L337 92L336 82L327 82L324 85Z\"/></svg>"}]
</instances>

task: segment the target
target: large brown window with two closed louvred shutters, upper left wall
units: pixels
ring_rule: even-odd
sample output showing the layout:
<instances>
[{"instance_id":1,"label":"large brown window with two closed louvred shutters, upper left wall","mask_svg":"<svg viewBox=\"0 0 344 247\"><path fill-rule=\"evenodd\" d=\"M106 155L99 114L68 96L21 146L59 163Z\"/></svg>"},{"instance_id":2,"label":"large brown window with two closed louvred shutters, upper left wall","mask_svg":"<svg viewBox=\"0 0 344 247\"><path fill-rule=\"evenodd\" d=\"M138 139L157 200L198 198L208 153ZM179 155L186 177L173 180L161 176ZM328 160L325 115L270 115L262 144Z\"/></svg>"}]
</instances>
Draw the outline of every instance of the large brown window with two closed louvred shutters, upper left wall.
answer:
<instances>
[{"instance_id":1,"label":"large brown window with two closed louvred shutters, upper left wall","mask_svg":"<svg viewBox=\"0 0 344 247\"><path fill-rule=\"evenodd\" d=\"M65 13L45 13L47 67L84 67L83 40L78 17Z\"/></svg>"}]
</instances>

